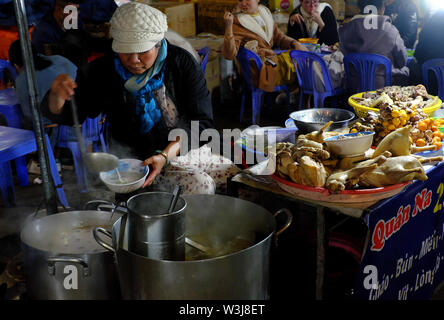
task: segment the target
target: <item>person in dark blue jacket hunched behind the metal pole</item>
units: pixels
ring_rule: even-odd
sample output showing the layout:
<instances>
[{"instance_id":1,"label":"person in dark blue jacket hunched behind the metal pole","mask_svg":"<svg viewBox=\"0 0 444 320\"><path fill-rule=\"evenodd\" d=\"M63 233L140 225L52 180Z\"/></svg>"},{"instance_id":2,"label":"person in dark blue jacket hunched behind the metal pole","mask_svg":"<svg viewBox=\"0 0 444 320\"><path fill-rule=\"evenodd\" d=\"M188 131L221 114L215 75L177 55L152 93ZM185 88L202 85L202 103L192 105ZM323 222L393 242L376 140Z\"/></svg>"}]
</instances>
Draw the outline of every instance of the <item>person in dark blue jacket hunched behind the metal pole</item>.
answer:
<instances>
[{"instance_id":1,"label":"person in dark blue jacket hunched behind the metal pole","mask_svg":"<svg viewBox=\"0 0 444 320\"><path fill-rule=\"evenodd\" d=\"M32 47L32 59L35 68L35 80L37 85L37 94L39 100L37 101L40 105L43 97L51 88L52 82L59 74L69 74L70 77L75 78L77 74L77 67L68 59L53 55L44 56L37 53L34 45ZM17 71L17 78L15 80L15 91L17 98L20 102L20 107L23 113L23 127L24 129L32 130L32 111L31 103L29 97L29 87L28 81L26 79L25 66L22 58L22 48L20 46L20 41L14 41L9 47L9 61L14 66ZM58 128L57 126L51 126L52 121L46 117L42 119L43 125L46 126L46 133L51 141L51 146L54 150L55 144L57 142ZM72 135L74 135L74 130L72 130Z\"/></svg>"}]
</instances>

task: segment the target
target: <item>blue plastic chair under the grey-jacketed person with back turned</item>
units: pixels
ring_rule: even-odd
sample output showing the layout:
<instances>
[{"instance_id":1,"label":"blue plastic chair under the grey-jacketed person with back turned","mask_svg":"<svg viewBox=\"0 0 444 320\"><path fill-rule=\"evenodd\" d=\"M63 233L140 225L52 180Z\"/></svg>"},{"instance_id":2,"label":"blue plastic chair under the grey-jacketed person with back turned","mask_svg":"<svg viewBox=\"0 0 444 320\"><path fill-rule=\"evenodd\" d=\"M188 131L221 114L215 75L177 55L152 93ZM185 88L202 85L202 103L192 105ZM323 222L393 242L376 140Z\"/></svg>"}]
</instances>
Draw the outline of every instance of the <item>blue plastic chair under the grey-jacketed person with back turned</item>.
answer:
<instances>
[{"instance_id":1,"label":"blue plastic chair under the grey-jacketed person with back turned","mask_svg":"<svg viewBox=\"0 0 444 320\"><path fill-rule=\"evenodd\" d=\"M392 85L392 63L390 59L370 53L349 53L344 56L344 70L347 81L347 88L353 88L350 77L350 64L358 75L358 86L356 92L374 91L375 89L375 73L379 65L385 67L385 86Z\"/></svg>"}]
</instances>

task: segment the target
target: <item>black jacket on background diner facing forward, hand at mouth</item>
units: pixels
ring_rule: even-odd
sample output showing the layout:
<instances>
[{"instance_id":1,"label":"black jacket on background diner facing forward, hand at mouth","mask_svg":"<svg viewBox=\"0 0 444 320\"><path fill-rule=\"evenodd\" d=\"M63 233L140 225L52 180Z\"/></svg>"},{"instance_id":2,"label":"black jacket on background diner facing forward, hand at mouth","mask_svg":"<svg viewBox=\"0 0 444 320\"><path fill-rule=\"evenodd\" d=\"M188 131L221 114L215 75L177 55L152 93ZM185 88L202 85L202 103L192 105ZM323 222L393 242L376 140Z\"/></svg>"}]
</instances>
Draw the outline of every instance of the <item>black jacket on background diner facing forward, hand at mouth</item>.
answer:
<instances>
[{"instance_id":1,"label":"black jacket on background diner facing forward, hand at mouth","mask_svg":"<svg viewBox=\"0 0 444 320\"><path fill-rule=\"evenodd\" d=\"M293 15L295 13L301 14L301 6L297 6L296 9L293 10L293 12L290 14ZM302 15L302 14L301 14ZM336 42L339 42L339 36L338 36L338 26L336 23L335 14L333 13L333 10L327 6L321 13L321 18L325 23L324 28L322 31L319 31L319 28L316 32L316 37L319 39L318 43L326 45L333 45ZM307 28L305 27L305 24L302 23L302 26L300 26L298 23L294 23L293 25L290 25L290 22L288 22L287 25L287 35L289 37L292 37L293 39L300 39L300 38L309 38L309 35L307 33Z\"/></svg>"}]
</instances>

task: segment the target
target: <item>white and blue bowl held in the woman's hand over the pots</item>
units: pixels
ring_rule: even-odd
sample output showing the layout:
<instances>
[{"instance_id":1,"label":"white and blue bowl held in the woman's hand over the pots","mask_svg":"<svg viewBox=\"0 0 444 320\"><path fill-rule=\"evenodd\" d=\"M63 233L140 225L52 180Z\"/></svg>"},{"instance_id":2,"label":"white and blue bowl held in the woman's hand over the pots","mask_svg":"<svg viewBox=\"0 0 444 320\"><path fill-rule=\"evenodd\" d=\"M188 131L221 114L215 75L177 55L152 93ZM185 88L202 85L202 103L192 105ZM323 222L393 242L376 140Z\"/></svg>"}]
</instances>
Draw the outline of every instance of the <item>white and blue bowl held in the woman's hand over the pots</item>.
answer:
<instances>
[{"instance_id":1,"label":"white and blue bowl held in the woman's hand over the pots","mask_svg":"<svg viewBox=\"0 0 444 320\"><path fill-rule=\"evenodd\" d=\"M142 161L137 159L119 159L117 169L100 172L100 180L113 192L133 192L143 185L150 172L149 168L141 166L141 163ZM119 171L121 180L116 170Z\"/></svg>"}]
</instances>

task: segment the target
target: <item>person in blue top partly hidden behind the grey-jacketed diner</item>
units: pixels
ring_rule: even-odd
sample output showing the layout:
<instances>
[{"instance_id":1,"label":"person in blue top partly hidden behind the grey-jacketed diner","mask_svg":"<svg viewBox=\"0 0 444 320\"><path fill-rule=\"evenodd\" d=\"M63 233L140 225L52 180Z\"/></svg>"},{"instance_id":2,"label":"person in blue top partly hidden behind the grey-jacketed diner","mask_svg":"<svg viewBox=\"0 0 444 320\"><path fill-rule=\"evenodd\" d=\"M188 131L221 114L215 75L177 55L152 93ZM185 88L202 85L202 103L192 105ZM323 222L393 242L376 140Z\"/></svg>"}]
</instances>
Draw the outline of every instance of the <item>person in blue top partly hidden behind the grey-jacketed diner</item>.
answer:
<instances>
[{"instance_id":1,"label":"person in blue top partly hidden behind the grey-jacketed diner","mask_svg":"<svg viewBox=\"0 0 444 320\"><path fill-rule=\"evenodd\" d=\"M386 16L392 19L392 24L398 29L404 45L413 49L418 33L418 8L412 0L386 0Z\"/></svg>"}]
</instances>

